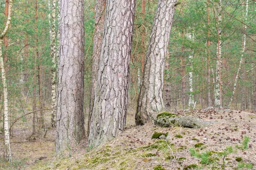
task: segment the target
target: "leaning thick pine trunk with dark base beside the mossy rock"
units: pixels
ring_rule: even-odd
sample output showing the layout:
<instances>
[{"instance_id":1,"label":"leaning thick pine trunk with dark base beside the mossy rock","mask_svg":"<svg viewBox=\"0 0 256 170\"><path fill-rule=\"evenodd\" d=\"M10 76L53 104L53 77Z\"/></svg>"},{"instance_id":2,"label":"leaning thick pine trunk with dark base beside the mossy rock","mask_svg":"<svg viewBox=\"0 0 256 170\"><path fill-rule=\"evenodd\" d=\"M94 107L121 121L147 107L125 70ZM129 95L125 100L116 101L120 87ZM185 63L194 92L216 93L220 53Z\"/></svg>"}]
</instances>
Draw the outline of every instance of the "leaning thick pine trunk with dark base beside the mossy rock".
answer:
<instances>
[{"instance_id":1,"label":"leaning thick pine trunk with dark base beside the mossy rock","mask_svg":"<svg viewBox=\"0 0 256 170\"><path fill-rule=\"evenodd\" d=\"M135 116L136 125L144 125L153 119L156 113L164 109L164 63L176 3L177 0L160 0L157 5L145 59L143 80L140 86Z\"/></svg>"}]
</instances>

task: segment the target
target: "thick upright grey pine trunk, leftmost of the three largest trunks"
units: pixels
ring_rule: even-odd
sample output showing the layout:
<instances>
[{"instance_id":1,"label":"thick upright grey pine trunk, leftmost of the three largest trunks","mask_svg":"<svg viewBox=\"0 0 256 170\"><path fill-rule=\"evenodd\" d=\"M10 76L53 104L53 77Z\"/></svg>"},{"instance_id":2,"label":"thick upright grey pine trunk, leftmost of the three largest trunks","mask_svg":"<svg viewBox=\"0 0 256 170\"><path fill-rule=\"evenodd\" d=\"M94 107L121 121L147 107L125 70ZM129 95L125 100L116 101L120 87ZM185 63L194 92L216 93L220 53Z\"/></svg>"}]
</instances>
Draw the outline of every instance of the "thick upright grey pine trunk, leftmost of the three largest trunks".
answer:
<instances>
[{"instance_id":1,"label":"thick upright grey pine trunk, leftmost of the three largest trunks","mask_svg":"<svg viewBox=\"0 0 256 170\"><path fill-rule=\"evenodd\" d=\"M65 154L85 137L83 0L60 0L60 8L55 150Z\"/></svg>"}]
</instances>

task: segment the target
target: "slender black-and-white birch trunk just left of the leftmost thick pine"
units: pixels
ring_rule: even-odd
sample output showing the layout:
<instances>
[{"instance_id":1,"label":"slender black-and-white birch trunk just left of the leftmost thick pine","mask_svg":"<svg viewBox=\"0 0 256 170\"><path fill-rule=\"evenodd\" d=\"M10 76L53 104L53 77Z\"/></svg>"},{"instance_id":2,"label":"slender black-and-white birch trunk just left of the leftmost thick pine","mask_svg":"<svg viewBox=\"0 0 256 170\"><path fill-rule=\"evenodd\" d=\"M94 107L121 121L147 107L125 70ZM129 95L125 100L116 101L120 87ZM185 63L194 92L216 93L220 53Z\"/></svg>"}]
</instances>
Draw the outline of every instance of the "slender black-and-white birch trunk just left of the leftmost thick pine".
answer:
<instances>
[{"instance_id":1,"label":"slender black-and-white birch trunk just left of the leftmost thick pine","mask_svg":"<svg viewBox=\"0 0 256 170\"><path fill-rule=\"evenodd\" d=\"M50 2L50 1L49 1ZM50 3L49 3L50 5ZM50 10L51 9L51 10ZM55 34L55 13L56 13L56 0L52 0L51 6L49 6L49 14L52 12L51 17L49 17L49 23L51 26L50 38L51 38L51 57L52 57L52 108L56 108L56 34ZM51 124L52 127L56 127L56 110L52 110Z\"/></svg>"}]
</instances>

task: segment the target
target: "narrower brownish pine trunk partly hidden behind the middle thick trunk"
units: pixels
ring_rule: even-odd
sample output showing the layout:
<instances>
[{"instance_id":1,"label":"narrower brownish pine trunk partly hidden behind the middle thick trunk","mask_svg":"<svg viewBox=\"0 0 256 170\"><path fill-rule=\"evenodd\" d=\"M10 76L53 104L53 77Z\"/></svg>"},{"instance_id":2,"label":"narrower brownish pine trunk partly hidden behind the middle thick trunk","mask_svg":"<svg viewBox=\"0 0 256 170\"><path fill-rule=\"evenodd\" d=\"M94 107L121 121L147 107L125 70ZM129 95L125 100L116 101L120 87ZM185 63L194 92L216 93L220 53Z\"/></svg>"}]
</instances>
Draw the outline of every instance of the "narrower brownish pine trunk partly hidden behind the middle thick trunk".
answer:
<instances>
[{"instance_id":1,"label":"narrower brownish pine trunk partly hidden behind the middle thick trunk","mask_svg":"<svg viewBox=\"0 0 256 170\"><path fill-rule=\"evenodd\" d=\"M106 0L97 0L95 7L95 31L93 37L93 64L92 64L92 78L91 78L91 91L90 91L90 105L89 105L89 120L93 110L95 87L97 83L97 74L99 69L99 58L101 52L102 38L103 38L103 26L104 26L104 12L105 12ZM89 135L90 121L88 120Z\"/></svg>"}]
</instances>

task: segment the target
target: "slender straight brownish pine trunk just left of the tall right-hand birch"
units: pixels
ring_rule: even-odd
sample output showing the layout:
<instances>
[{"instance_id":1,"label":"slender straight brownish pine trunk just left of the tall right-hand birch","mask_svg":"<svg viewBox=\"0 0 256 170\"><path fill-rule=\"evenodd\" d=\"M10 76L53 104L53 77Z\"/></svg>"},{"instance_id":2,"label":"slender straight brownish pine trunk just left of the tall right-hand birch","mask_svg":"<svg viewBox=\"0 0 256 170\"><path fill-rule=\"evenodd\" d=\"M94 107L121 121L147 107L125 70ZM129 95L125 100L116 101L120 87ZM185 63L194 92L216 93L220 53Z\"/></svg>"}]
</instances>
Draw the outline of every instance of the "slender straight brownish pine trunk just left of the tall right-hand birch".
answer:
<instances>
[{"instance_id":1,"label":"slender straight brownish pine trunk just left of the tall right-hand birch","mask_svg":"<svg viewBox=\"0 0 256 170\"><path fill-rule=\"evenodd\" d=\"M207 0L207 107L212 106L212 100L211 100L211 67L210 67L210 61L211 61L211 54L210 54L210 10L209 10L209 0Z\"/></svg>"}]
</instances>

